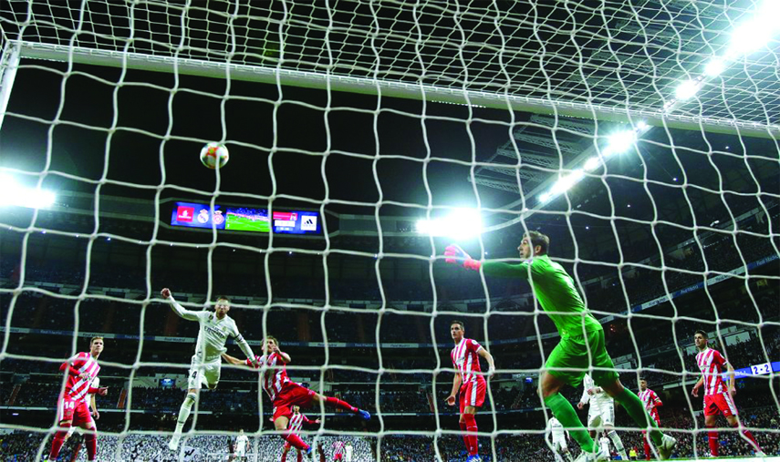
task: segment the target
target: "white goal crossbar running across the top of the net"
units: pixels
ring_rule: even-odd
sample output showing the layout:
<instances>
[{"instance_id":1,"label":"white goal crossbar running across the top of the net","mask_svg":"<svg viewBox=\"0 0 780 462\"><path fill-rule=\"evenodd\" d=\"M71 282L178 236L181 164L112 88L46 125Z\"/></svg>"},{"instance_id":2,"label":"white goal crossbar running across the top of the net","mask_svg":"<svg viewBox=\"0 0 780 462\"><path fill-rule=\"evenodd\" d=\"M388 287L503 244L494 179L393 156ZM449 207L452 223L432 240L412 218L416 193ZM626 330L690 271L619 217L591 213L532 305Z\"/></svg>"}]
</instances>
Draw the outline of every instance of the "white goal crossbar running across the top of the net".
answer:
<instances>
[{"instance_id":1,"label":"white goal crossbar running across the top of the net","mask_svg":"<svg viewBox=\"0 0 780 462\"><path fill-rule=\"evenodd\" d=\"M21 40L8 41L16 47L19 56L33 59L72 61L78 64L132 69L183 75L224 78L261 82L292 87L331 89L351 93L377 95L390 98L425 99L426 101L453 104L469 104L477 107L507 109L559 117L589 118L599 121L630 122L642 120L655 127L680 128L711 133L738 134L745 137L780 139L780 127L733 120L727 118L702 118L670 114L662 110L636 110L562 101L548 98L530 98L508 93L474 91L405 83L380 78L348 77L326 72L306 72L280 67L251 66L214 62L178 56L155 56L144 53L63 46Z\"/></svg>"}]
</instances>

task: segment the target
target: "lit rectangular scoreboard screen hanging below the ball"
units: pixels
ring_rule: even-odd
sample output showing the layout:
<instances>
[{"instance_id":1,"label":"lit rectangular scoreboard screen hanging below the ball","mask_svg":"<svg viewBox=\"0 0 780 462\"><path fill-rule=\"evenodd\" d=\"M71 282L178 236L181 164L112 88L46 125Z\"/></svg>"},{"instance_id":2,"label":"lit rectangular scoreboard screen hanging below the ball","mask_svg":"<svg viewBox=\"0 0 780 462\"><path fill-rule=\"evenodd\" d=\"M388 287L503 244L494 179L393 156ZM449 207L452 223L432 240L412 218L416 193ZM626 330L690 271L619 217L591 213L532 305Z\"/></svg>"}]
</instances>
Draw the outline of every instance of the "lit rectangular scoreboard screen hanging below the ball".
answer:
<instances>
[{"instance_id":1,"label":"lit rectangular scoreboard screen hanging below the ball","mask_svg":"<svg viewBox=\"0 0 780 462\"><path fill-rule=\"evenodd\" d=\"M249 231L268 233L273 227L280 234L320 234L322 227L316 211L275 211L273 220L267 209L248 207L223 207L198 202L175 202L171 213L171 225L186 228L205 228L225 231Z\"/></svg>"}]
</instances>

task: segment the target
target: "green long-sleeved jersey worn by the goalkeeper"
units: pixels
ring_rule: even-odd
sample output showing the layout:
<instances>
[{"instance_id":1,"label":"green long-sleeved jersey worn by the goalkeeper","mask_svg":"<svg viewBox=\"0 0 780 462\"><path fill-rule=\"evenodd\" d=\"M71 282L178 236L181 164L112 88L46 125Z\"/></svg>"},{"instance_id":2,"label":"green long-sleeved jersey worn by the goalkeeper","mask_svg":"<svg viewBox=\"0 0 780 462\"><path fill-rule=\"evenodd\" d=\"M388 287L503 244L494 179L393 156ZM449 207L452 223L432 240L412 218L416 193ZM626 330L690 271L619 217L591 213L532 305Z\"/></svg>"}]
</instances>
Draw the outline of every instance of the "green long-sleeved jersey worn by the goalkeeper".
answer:
<instances>
[{"instance_id":1,"label":"green long-sleeved jersey worn by the goalkeeper","mask_svg":"<svg viewBox=\"0 0 780 462\"><path fill-rule=\"evenodd\" d=\"M482 268L487 276L519 277L530 282L536 299L556 324L561 337L601 330L601 324L582 302L571 276L547 255L519 264L484 262Z\"/></svg>"}]
</instances>

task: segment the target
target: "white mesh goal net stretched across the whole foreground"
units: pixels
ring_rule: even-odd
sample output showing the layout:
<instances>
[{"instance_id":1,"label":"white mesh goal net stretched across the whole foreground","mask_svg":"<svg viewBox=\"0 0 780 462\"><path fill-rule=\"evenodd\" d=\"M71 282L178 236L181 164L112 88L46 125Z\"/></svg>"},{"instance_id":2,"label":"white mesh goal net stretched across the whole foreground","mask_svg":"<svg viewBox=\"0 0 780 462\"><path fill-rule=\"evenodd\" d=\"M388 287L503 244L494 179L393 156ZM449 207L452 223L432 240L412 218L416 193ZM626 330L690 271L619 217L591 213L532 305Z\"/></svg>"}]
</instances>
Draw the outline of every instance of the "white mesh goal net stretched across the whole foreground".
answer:
<instances>
[{"instance_id":1,"label":"white mesh goal net stretched across the whole foreground","mask_svg":"<svg viewBox=\"0 0 780 462\"><path fill-rule=\"evenodd\" d=\"M443 256L517 264L541 231L622 384L663 401L676 457L713 450L691 394L700 330L735 370L720 455L756 452L745 428L776 452L778 15L772 0L5 2L3 440L48 454L58 367L100 336L99 459L227 458L244 430L247 457L278 460L274 404L227 363L167 447L198 336L167 287L195 311L229 297L255 354L276 337L294 382L371 413L304 408L325 459L473 455L445 403L453 320L497 368L476 451L552 459L536 390L555 323L524 278ZM207 143L224 167L197 158ZM641 428L614 418L643 457Z\"/></svg>"}]
</instances>

